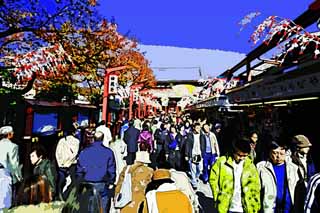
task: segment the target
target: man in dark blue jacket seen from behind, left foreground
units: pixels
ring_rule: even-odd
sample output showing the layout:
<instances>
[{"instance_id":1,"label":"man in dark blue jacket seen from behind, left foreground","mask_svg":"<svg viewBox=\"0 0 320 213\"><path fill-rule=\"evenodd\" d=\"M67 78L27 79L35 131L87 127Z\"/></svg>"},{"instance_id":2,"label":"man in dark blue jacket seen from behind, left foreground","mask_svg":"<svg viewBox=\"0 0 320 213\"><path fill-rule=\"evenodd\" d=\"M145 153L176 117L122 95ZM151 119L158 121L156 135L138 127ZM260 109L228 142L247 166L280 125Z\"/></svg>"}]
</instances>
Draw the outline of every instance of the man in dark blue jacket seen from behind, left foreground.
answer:
<instances>
[{"instance_id":1,"label":"man in dark blue jacket seen from behind, left foreground","mask_svg":"<svg viewBox=\"0 0 320 213\"><path fill-rule=\"evenodd\" d=\"M114 153L103 146L102 141L103 133L95 132L94 143L79 154L76 173L78 181L84 181L96 188L101 196L103 212L109 212L116 180L116 162Z\"/></svg>"}]
</instances>

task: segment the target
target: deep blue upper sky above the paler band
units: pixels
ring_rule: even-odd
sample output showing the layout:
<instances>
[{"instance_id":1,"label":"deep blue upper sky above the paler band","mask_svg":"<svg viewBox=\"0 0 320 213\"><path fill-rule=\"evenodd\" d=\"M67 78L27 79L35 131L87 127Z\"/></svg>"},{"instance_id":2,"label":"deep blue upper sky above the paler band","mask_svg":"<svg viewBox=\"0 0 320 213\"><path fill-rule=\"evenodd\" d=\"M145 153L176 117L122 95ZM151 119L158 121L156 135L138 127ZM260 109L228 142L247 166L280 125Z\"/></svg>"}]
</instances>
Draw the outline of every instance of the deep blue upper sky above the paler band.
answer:
<instances>
[{"instance_id":1,"label":"deep blue upper sky above the paler band","mask_svg":"<svg viewBox=\"0 0 320 213\"><path fill-rule=\"evenodd\" d=\"M130 31L146 45L219 49L248 53L250 34L265 18L294 19L313 0L101 0L100 11L115 18L119 31ZM261 15L240 32L238 22L250 12Z\"/></svg>"}]
</instances>

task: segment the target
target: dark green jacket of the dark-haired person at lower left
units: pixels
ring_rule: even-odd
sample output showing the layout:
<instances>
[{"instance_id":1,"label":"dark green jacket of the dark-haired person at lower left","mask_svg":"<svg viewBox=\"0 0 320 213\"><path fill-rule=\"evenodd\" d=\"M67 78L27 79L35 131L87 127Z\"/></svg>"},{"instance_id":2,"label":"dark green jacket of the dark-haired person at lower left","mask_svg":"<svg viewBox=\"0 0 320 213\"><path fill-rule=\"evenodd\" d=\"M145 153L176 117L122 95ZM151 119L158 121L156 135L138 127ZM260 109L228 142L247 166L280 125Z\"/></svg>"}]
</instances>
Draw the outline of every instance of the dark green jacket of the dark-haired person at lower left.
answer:
<instances>
[{"instance_id":1,"label":"dark green jacket of the dark-haired person at lower left","mask_svg":"<svg viewBox=\"0 0 320 213\"><path fill-rule=\"evenodd\" d=\"M45 176L48 179L53 196L56 189L57 176L57 172L53 164L48 159L43 159L38 165L33 168L33 174Z\"/></svg>"}]
</instances>

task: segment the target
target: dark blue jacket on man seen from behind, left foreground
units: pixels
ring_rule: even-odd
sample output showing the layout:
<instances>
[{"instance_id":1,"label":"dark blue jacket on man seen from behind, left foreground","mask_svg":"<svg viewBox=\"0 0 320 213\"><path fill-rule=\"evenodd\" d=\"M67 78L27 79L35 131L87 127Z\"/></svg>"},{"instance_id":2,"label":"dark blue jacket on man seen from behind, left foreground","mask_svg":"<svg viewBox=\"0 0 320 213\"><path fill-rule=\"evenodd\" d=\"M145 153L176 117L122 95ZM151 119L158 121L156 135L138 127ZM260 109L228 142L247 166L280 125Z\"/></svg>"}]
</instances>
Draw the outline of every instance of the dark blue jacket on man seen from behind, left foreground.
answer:
<instances>
[{"instance_id":1,"label":"dark blue jacket on man seen from behind, left foreground","mask_svg":"<svg viewBox=\"0 0 320 213\"><path fill-rule=\"evenodd\" d=\"M116 162L112 150L96 141L82 150L77 164L77 176L88 182L113 184L116 180Z\"/></svg>"}]
</instances>

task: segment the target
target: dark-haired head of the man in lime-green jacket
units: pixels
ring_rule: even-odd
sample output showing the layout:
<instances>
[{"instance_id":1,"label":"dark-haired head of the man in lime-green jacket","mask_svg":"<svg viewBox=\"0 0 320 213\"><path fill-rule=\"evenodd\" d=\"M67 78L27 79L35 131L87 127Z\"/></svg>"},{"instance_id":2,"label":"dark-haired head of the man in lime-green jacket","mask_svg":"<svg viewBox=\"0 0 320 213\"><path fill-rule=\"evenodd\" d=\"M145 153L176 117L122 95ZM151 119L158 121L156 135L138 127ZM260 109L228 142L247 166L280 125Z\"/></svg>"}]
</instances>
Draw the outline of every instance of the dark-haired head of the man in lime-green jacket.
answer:
<instances>
[{"instance_id":1,"label":"dark-haired head of the man in lime-green jacket","mask_svg":"<svg viewBox=\"0 0 320 213\"><path fill-rule=\"evenodd\" d=\"M248 157L251 147L250 142L246 138L237 139L233 142L233 159L236 163L240 163Z\"/></svg>"}]
</instances>

